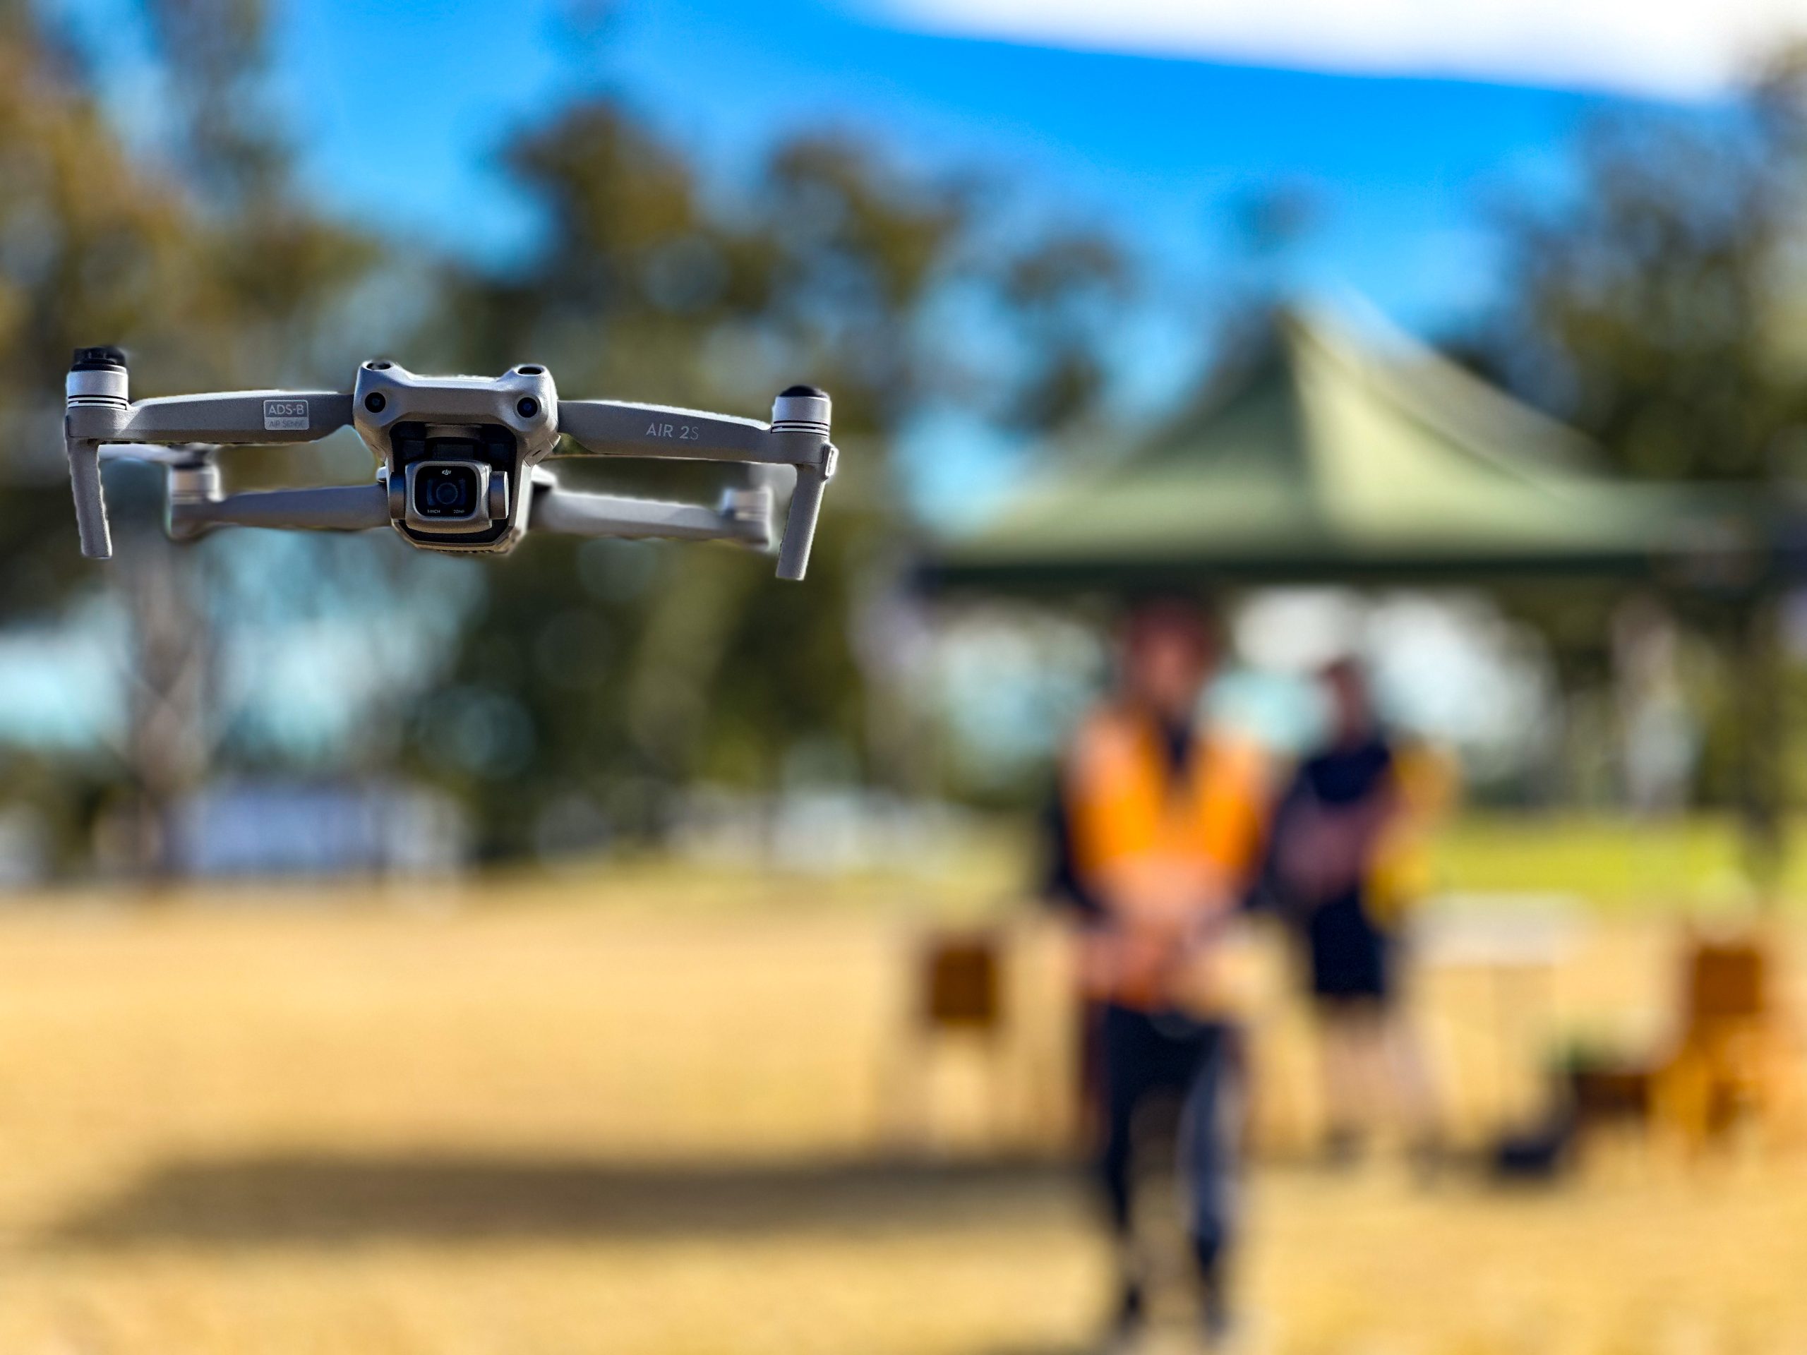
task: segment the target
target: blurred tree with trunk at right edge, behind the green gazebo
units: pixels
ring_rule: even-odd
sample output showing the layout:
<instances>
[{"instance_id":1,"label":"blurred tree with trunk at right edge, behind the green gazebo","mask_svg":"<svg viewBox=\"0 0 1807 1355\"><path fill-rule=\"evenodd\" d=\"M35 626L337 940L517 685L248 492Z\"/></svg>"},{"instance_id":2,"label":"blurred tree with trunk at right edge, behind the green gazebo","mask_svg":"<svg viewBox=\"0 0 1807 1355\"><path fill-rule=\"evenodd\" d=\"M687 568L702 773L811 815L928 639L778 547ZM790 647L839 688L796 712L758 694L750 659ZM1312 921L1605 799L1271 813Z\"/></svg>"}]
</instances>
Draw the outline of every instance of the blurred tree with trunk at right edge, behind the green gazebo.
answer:
<instances>
[{"instance_id":1,"label":"blurred tree with trunk at right edge, behind the green gazebo","mask_svg":"<svg viewBox=\"0 0 1807 1355\"><path fill-rule=\"evenodd\" d=\"M1572 192L1507 219L1507 304L1485 345L1532 399L1630 475L1778 484L1807 430L1800 246L1807 224L1807 58L1784 52L1733 108L1601 121ZM1767 569L1671 593L1720 656L1709 790L1735 797L1755 864L1778 849L1780 578ZM1574 594L1534 612L1570 672L1608 661L1606 609Z\"/></svg>"}]
</instances>

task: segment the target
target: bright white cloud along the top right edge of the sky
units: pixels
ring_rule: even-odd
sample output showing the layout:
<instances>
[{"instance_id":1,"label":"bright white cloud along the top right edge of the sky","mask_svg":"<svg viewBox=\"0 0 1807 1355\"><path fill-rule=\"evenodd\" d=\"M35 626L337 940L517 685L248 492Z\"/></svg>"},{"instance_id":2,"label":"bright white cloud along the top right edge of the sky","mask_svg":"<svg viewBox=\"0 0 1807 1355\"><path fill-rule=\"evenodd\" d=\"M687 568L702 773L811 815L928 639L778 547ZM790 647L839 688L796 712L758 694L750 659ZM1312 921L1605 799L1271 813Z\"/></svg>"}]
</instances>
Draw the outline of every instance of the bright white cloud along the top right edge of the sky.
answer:
<instances>
[{"instance_id":1,"label":"bright white cloud along the top right edge of the sky","mask_svg":"<svg viewBox=\"0 0 1807 1355\"><path fill-rule=\"evenodd\" d=\"M1697 98L1789 36L1807 0L867 0L900 27L1308 70Z\"/></svg>"}]
</instances>

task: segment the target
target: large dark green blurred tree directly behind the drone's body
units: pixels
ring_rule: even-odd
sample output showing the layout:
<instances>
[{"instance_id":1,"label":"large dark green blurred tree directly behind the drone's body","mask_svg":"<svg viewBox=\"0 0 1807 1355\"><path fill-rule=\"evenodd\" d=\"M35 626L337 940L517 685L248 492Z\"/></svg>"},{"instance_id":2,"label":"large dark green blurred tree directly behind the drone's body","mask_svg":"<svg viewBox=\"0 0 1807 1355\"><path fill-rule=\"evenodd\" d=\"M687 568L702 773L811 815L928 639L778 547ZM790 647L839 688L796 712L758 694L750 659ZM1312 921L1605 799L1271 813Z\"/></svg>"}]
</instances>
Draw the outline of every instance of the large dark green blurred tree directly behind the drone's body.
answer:
<instances>
[{"instance_id":1,"label":"large dark green blurred tree directly behind the drone's body","mask_svg":"<svg viewBox=\"0 0 1807 1355\"><path fill-rule=\"evenodd\" d=\"M454 275L443 361L531 356L566 390L755 416L808 381L833 392L842 475L804 587L730 549L535 540L492 567L457 670L416 724L421 764L482 806L497 851L529 846L548 811L656 833L679 786L772 788L799 753L896 779L867 737L884 721L853 623L905 528L891 446L931 401L1028 430L1090 412L1097 298L1124 284L1115 249L1072 229L999 238L990 190L904 175L846 139L703 184L604 99L555 116L510 166L546 248L508 275ZM950 314L983 316L994 347ZM564 473L582 472L602 468ZM631 491L707 493L710 475L607 468Z\"/></svg>"}]
</instances>

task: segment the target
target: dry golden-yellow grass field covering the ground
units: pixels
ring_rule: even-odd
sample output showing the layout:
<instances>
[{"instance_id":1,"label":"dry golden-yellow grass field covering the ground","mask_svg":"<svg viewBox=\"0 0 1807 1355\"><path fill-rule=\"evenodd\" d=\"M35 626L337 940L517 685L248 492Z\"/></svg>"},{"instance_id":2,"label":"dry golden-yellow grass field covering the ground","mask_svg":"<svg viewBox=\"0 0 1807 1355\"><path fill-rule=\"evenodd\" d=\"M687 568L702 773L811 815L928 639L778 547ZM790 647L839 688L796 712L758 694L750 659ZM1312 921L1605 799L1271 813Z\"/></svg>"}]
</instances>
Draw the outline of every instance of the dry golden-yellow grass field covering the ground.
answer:
<instances>
[{"instance_id":1,"label":"dry golden-yellow grass field covering the ground","mask_svg":"<svg viewBox=\"0 0 1807 1355\"><path fill-rule=\"evenodd\" d=\"M1084 1350L1082 1183L880 1145L916 892L654 871L0 912L0 1355ZM1588 929L1531 1015L1431 977L1453 1095L1521 1095L1507 1019L1659 1028L1671 939ZM1518 1191L1287 1162L1249 1183L1254 1350L1807 1350L1793 1160Z\"/></svg>"}]
</instances>

